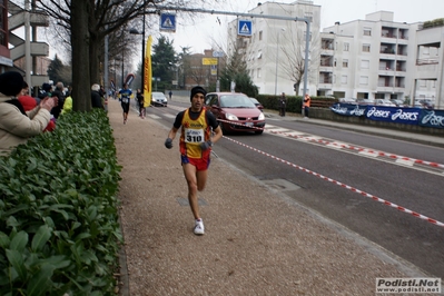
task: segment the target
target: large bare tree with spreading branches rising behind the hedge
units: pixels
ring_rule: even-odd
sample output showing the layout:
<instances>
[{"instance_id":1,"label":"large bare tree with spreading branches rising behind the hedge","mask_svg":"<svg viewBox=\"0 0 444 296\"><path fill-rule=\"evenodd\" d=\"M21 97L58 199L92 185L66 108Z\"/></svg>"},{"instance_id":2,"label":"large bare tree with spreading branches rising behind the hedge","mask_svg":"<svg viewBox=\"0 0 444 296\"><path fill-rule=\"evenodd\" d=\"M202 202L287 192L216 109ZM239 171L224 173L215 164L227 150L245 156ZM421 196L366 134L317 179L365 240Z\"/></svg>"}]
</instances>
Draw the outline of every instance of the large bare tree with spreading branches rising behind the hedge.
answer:
<instances>
[{"instance_id":1,"label":"large bare tree with spreading branches rising behind the hedge","mask_svg":"<svg viewBox=\"0 0 444 296\"><path fill-rule=\"evenodd\" d=\"M100 49L106 36L158 6L193 7L209 0L41 0L38 8L65 28L72 48L73 109L90 110L90 85L99 81Z\"/></svg>"}]
</instances>

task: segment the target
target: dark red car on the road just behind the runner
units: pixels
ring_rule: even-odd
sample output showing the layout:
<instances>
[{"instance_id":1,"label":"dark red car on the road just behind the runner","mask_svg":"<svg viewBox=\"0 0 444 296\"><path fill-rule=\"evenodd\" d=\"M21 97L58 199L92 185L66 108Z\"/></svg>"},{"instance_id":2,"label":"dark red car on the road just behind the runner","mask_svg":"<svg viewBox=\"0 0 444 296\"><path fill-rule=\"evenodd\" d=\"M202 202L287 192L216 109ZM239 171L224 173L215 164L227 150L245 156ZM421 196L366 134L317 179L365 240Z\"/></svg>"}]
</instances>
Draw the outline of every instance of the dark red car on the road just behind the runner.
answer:
<instances>
[{"instance_id":1,"label":"dark red car on the road just behind the runner","mask_svg":"<svg viewBox=\"0 0 444 296\"><path fill-rule=\"evenodd\" d=\"M205 105L215 115L226 134L254 131L262 135L264 132L264 114L244 93L210 92L206 96Z\"/></svg>"}]
</instances>

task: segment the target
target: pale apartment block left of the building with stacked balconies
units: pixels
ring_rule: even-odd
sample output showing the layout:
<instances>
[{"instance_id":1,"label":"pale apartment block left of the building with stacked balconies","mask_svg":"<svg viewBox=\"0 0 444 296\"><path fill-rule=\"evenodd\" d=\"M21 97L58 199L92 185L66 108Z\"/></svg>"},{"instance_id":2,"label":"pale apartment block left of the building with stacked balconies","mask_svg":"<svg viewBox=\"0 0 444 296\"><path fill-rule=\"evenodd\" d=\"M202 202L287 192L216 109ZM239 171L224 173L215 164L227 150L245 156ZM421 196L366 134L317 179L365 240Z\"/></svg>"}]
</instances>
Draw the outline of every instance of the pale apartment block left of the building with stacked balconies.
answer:
<instances>
[{"instance_id":1,"label":"pale apartment block left of the building with stacked balconies","mask_svg":"<svg viewBox=\"0 0 444 296\"><path fill-rule=\"evenodd\" d=\"M293 3L264 2L249 10L251 14L285 16L310 21L308 92L316 93L320 6L313 1ZM251 37L237 36L238 19L228 24L228 57L237 50L244 55L253 82L259 93L295 93L296 79L302 78L307 26L304 21L253 18ZM316 69L316 70L315 70ZM300 91L303 82L300 83ZM299 93L300 93L299 91Z\"/></svg>"}]
</instances>

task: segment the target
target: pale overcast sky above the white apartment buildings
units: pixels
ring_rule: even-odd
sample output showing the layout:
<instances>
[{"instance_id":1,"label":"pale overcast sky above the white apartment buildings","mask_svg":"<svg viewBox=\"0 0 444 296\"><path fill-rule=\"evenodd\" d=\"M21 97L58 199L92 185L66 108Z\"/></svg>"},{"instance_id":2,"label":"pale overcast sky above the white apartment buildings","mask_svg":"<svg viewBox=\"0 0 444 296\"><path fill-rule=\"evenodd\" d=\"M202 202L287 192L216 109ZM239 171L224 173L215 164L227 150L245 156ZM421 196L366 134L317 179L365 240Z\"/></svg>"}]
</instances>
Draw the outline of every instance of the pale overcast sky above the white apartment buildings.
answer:
<instances>
[{"instance_id":1,"label":"pale overcast sky above the white apartment buildings","mask_svg":"<svg viewBox=\"0 0 444 296\"><path fill-rule=\"evenodd\" d=\"M258 2L293 3L295 1L225 0L223 4L205 6L203 9L248 13L248 10L255 8ZM366 14L379 10L394 12L396 22L412 23L444 18L444 0L314 0L313 3L320 6L320 29L334 26L336 21L344 23L357 19L363 20ZM180 51L181 47L190 47L191 52L204 53L205 49L211 49L211 46L225 42L226 24L235 17L203 13L195 18L195 23L189 19L180 19L179 16L176 19L176 33L164 33L174 40L176 51Z\"/></svg>"}]
</instances>

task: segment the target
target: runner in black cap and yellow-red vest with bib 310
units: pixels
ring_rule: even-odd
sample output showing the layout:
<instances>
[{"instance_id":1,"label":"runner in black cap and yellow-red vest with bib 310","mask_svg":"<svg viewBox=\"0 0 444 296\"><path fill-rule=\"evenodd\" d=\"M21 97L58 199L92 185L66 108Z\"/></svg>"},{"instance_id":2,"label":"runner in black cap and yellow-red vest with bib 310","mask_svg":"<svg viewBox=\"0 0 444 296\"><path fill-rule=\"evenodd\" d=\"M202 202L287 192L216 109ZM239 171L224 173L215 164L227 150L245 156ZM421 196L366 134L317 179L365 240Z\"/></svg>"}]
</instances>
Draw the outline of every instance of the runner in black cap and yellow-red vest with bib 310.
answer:
<instances>
[{"instance_id":1,"label":"runner in black cap and yellow-red vest with bib 310","mask_svg":"<svg viewBox=\"0 0 444 296\"><path fill-rule=\"evenodd\" d=\"M197 191L204 190L207 181L213 144L223 137L215 116L204 107L206 95L207 91L203 87L197 86L191 89L191 107L176 116L168 138L165 140L165 147L171 149L172 140L181 127L180 159L188 184L188 201L195 217L195 235L204 235L205 231L204 220L199 214Z\"/></svg>"}]
</instances>

